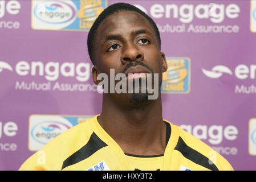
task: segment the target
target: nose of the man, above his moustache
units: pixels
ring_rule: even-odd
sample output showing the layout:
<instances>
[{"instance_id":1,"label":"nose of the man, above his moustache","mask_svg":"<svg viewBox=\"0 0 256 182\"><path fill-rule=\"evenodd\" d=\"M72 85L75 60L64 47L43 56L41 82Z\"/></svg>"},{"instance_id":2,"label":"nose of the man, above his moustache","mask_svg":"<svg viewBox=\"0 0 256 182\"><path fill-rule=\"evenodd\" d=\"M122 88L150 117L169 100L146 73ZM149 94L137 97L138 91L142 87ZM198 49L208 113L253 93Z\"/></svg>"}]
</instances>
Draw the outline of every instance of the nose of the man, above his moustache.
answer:
<instances>
[{"instance_id":1,"label":"nose of the man, above his moustache","mask_svg":"<svg viewBox=\"0 0 256 182\"><path fill-rule=\"evenodd\" d=\"M140 50L140 48L133 43L127 44L123 50L123 54L121 56L122 64L127 64L131 61L143 61L144 53Z\"/></svg>"}]
</instances>

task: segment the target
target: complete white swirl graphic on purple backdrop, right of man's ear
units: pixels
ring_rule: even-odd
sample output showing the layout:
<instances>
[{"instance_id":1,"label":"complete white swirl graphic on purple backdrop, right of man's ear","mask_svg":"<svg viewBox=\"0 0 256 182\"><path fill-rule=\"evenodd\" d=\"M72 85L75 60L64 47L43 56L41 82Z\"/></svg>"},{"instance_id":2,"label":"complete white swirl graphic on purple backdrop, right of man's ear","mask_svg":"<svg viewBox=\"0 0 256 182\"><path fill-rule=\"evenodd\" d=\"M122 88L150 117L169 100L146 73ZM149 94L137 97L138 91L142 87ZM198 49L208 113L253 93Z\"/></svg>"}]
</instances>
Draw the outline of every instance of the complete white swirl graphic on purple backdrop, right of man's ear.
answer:
<instances>
[{"instance_id":1,"label":"complete white swirl graphic on purple backdrop, right of man's ear","mask_svg":"<svg viewBox=\"0 0 256 182\"><path fill-rule=\"evenodd\" d=\"M232 75L230 69L225 67L224 65L217 65L212 68L212 71L208 71L202 68L202 72L204 73L205 76L209 78L220 78L223 75L223 73Z\"/></svg>"}]
</instances>

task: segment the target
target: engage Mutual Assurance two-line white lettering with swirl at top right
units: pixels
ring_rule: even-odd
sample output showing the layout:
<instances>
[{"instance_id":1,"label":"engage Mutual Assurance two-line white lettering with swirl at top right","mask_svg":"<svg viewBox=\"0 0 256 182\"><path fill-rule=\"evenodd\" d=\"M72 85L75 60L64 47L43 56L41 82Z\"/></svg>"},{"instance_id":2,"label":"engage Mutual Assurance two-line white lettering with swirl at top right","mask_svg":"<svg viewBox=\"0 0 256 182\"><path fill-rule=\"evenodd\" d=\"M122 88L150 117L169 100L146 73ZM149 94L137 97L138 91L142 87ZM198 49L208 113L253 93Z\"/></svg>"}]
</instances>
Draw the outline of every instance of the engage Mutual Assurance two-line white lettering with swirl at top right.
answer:
<instances>
[{"instance_id":1,"label":"engage Mutual Assurance two-line white lettering with swirl at top right","mask_svg":"<svg viewBox=\"0 0 256 182\"><path fill-rule=\"evenodd\" d=\"M216 3L179 1L178 4L173 1L154 2L158 3L152 2L153 4L147 8L143 5L135 6L156 20L161 33L236 34L239 32L239 24L236 24L235 19L239 17L240 7L236 3L224 4L221 3L222 1L216 1ZM208 23L203 23L201 20ZM226 20L230 23L227 24Z\"/></svg>"}]
</instances>

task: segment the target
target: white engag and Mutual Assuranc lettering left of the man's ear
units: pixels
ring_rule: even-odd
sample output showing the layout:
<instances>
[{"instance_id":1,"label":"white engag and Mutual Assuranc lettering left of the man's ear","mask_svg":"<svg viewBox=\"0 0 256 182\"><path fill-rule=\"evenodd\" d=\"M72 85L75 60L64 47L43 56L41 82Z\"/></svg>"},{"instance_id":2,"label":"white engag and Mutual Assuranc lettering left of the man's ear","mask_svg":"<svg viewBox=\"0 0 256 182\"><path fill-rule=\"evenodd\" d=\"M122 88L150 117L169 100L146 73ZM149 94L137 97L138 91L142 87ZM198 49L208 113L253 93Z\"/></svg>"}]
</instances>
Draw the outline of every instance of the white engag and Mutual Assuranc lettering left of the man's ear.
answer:
<instances>
[{"instance_id":1,"label":"white engag and Mutual Assuranc lettering left of the man's ear","mask_svg":"<svg viewBox=\"0 0 256 182\"><path fill-rule=\"evenodd\" d=\"M87 82L91 76L91 64L84 61L81 63L19 61L15 65L0 61L0 75L10 75L10 73L29 80L16 80L14 85L16 90L97 92L97 85ZM34 77L43 77L46 82L34 81ZM59 82L62 78L67 78L68 82ZM72 83L70 78L78 82Z\"/></svg>"}]
</instances>

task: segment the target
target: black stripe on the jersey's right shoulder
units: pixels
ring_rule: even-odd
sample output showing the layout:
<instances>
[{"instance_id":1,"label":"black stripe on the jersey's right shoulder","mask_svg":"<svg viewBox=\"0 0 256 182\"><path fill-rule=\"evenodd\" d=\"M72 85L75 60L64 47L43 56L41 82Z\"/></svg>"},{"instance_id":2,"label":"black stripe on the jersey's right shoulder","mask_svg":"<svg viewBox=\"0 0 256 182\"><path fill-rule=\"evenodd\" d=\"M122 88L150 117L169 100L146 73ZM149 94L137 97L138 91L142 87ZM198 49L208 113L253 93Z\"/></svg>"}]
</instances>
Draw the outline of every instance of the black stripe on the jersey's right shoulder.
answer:
<instances>
[{"instance_id":1,"label":"black stripe on the jersey's right shoulder","mask_svg":"<svg viewBox=\"0 0 256 182\"><path fill-rule=\"evenodd\" d=\"M181 137L178 138L178 143L174 150L180 151L185 158L191 160L192 162L200 166L204 166L205 168L208 168L212 171L218 171L218 168L213 164L213 162L210 159L206 158L206 156L200 154L193 148L187 146Z\"/></svg>"}]
</instances>

